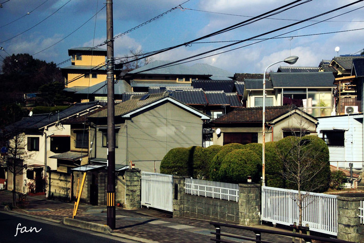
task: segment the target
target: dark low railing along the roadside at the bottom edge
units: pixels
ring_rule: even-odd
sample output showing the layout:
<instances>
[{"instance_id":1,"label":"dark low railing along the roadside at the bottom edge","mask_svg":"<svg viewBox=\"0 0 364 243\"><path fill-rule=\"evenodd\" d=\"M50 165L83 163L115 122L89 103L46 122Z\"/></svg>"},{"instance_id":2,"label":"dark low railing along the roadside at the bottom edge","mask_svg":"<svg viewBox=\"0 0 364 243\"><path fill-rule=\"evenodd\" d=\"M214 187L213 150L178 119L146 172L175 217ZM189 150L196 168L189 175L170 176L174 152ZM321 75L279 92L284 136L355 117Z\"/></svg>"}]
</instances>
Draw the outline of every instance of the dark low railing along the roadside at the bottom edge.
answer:
<instances>
[{"instance_id":1,"label":"dark low railing along the roadside at the bottom edge","mask_svg":"<svg viewBox=\"0 0 364 243\"><path fill-rule=\"evenodd\" d=\"M346 241L341 239L334 239L334 238L325 238L325 237L318 237L314 235L305 235L305 234L297 234L297 233L290 233L290 232L284 232L284 231L276 231L276 230L267 230L267 229L259 229L249 226L239 226L239 225L232 225L230 223L219 223L219 222L210 222L210 225L213 225L215 227L215 232L210 232L211 234L215 235L215 238L210 238L210 240L215 242L224 242L224 243L235 243L236 241L229 240L229 238L233 239L240 239L240 240L251 240L254 242L264 242L264 243L276 243L277 241L270 241L266 239L262 239L262 233L266 234L273 234L273 235L285 235L290 236L293 239L294 238L302 238L306 242L312 242L312 240L316 240L318 242L332 242L332 243L353 243L352 241ZM246 236L244 233L221 233L221 227L227 227L232 229L238 229L238 230L245 230L245 231L251 231L254 232L255 238ZM269 237L265 237L269 238ZM292 239L292 242L294 242Z\"/></svg>"}]
</instances>

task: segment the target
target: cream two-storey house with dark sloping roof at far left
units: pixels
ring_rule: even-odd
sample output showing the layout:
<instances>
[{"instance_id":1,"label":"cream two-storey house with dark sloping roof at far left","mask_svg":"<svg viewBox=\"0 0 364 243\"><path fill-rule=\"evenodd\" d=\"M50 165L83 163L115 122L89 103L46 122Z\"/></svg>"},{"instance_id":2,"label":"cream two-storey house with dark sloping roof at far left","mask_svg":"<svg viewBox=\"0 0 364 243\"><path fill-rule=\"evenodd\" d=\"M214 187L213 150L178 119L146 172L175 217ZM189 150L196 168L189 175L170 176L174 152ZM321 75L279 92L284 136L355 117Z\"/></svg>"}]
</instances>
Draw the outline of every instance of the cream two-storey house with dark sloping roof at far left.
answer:
<instances>
[{"instance_id":1,"label":"cream two-storey house with dark sloping roof at far left","mask_svg":"<svg viewBox=\"0 0 364 243\"><path fill-rule=\"evenodd\" d=\"M23 160L23 164L27 165L27 170L24 174L16 176L16 191L27 192L25 185L31 180L36 179L36 186L37 181L38 185L44 183L45 171L57 171L59 169L67 171L67 169L62 169L62 165L53 156L62 154L65 160L74 159L72 162L88 156L88 149L77 152L78 148L75 149L77 142L72 142L77 140L79 135L71 133L71 126L63 124L63 121L72 117L82 117L99 107L102 106L98 102L78 103L57 113L23 118L5 128L5 135L10 137L10 144L14 144L14 139L11 139L14 136L21 137L23 141L17 143L19 151L24 152L24 156L20 156L18 159ZM84 137L84 135L82 136ZM87 159L82 163L88 163ZM13 184L10 179L12 175L9 171L7 178L8 190L12 190ZM38 188L44 190L39 186Z\"/></svg>"}]
</instances>

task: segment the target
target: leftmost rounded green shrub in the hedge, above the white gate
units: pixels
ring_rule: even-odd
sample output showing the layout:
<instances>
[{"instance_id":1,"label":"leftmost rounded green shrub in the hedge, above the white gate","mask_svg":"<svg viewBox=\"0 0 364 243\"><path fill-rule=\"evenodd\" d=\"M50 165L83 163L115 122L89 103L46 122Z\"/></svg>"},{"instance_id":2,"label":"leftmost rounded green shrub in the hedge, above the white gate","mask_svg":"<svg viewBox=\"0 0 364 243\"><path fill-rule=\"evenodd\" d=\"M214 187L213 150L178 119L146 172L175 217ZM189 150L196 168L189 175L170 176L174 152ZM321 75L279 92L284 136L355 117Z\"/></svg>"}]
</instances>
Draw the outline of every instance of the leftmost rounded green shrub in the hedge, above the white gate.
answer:
<instances>
[{"instance_id":1,"label":"leftmost rounded green shrub in the hedge, above the white gate","mask_svg":"<svg viewBox=\"0 0 364 243\"><path fill-rule=\"evenodd\" d=\"M160 173L192 176L191 148L172 148L160 162Z\"/></svg>"}]
</instances>

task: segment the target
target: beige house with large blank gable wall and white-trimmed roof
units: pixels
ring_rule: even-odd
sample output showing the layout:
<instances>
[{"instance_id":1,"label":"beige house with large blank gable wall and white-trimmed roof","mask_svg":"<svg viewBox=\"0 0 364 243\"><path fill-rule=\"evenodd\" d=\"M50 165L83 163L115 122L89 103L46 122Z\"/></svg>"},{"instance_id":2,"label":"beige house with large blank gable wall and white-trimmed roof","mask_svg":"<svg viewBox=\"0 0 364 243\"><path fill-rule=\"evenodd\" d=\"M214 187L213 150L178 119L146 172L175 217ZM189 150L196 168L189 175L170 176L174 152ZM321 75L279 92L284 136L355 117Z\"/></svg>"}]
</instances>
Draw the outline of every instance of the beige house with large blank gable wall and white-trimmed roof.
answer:
<instances>
[{"instance_id":1,"label":"beige house with large blank gable wall and white-trimmed roof","mask_svg":"<svg viewBox=\"0 0 364 243\"><path fill-rule=\"evenodd\" d=\"M115 105L115 163L161 161L172 148L201 146L203 125L209 119L168 92L131 96ZM91 137L95 138L90 160L106 163L107 110L89 120L94 124Z\"/></svg>"}]
</instances>

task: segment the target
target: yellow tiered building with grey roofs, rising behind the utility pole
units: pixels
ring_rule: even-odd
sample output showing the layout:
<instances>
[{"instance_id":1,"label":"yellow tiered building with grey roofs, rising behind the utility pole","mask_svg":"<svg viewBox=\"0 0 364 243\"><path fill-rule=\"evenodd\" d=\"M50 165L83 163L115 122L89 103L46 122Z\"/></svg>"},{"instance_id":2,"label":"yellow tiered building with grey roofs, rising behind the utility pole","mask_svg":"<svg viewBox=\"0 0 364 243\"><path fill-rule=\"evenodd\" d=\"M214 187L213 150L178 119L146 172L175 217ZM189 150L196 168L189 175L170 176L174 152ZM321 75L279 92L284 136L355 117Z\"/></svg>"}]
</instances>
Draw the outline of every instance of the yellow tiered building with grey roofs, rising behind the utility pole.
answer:
<instances>
[{"instance_id":1,"label":"yellow tiered building with grey roofs, rising behind the utility pole","mask_svg":"<svg viewBox=\"0 0 364 243\"><path fill-rule=\"evenodd\" d=\"M65 87L84 89L106 80L106 55L102 48L77 47L68 50L72 65L62 68ZM117 77L120 71L114 71Z\"/></svg>"}]
</instances>

